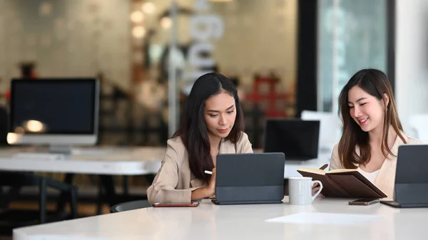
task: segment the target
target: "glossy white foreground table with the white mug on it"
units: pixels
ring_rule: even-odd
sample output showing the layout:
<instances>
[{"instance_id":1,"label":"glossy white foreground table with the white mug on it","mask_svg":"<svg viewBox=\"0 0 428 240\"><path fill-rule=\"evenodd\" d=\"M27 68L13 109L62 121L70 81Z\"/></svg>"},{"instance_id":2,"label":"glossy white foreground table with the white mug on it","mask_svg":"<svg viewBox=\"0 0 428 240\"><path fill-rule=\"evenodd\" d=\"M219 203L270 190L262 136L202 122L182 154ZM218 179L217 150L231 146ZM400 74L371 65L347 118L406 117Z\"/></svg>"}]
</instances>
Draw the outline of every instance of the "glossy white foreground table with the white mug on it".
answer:
<instances>
[{"instance_id":1,"label":"glossy white foreground table with the white mug on it","mask_svg":"<svg viewBox=\"0 0 428 240\"><path fill-rule=\"evenodd\" d=\"M349 206L347 201L217 206L203 200L195 208L138 209L14 229L14 239L428 239L428 209ZM282 216L289 222L266 221ZM299 217L305 221L298 222Z\"/></svg>"}]
</instances>

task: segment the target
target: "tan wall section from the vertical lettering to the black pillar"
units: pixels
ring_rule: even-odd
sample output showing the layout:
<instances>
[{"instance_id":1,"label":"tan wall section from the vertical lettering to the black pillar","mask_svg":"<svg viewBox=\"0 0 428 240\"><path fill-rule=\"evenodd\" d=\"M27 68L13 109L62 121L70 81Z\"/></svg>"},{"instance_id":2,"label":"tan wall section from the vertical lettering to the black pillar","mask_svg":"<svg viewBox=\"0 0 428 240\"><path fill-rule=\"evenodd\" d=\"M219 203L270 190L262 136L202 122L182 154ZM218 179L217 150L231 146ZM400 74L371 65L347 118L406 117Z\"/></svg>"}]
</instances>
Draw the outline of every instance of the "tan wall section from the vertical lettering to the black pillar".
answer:
<instances>
[{"instance_id":1,"label":"tan wall section from the vertical lettering to the black pillar","mask_svg":"<svg viewBox=\"0 0 428 240\"><path fill-rule=\"evenodd\" d=\"M158 14L170 8L170 0L151 0L155 12L147 16L144 26L158 26ZM178 0L183 8L194 9L195 0ZM294 88L297 54L297 0L234 0L209 1L209 14L224 22L223 36L211 39L213 58L220 72L238 75L243 83L251 83L255 73L275 71L285 85ZM133 9L141 9L133 6ZM201 11L205 14L205 12ZM155 18L156 17L156 18ZM178 43L190 39L190 19L178 17ZM158 31L152 43L168 43L170 32ZM137 53L138 54L138 53Z\"/></svg>"}]
</instances>

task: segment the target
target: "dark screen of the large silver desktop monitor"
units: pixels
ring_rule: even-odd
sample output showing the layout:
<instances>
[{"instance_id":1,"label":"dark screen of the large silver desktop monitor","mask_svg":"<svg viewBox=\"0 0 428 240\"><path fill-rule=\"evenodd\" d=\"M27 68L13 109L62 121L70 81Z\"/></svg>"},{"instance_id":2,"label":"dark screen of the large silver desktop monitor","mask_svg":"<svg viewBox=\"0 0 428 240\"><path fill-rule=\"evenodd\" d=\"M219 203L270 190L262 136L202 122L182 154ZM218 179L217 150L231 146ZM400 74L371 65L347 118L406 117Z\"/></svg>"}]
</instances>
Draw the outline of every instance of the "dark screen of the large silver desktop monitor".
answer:
<instances>
[{"instance_id":1,"label":"dark screen of the large silver desktop monitor","mask_svg":"<svg viewBox=\"0 0 428 240\"><path fill-rule=\"evenodd\" d=\"M96 82L96 78L12 80L9 132L93 135Z\"/></svg>"}]
</instances>

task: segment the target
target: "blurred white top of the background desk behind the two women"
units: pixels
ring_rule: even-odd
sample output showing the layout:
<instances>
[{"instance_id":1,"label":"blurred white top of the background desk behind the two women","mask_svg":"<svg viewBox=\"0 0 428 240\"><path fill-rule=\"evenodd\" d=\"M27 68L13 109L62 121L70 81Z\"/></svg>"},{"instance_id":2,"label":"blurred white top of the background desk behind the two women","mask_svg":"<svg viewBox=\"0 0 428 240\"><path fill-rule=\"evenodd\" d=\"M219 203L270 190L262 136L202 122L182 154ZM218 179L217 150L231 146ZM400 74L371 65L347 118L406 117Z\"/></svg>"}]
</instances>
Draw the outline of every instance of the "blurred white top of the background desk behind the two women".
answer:
<instances>
[{"instance_id":1,"label":"blurred white top of the background desk behind the two women","mask_svg":"<svg viewBox=\"0 0 428 240\"><path fill-rule=\"evenodd\" d=\"M34 151L34 148L24 148ZM68 172L76 174L142 175L156 174L165 147L89 147L76 148L66 160L17 159L21 147L0 149L0 170L29 172ZM255 152L263 152L255 150ZM319 168L330 162L331 152L320 152L315 160L285 161L284 177L300 177L299 167Z\"/></svg>"}]
</instances>

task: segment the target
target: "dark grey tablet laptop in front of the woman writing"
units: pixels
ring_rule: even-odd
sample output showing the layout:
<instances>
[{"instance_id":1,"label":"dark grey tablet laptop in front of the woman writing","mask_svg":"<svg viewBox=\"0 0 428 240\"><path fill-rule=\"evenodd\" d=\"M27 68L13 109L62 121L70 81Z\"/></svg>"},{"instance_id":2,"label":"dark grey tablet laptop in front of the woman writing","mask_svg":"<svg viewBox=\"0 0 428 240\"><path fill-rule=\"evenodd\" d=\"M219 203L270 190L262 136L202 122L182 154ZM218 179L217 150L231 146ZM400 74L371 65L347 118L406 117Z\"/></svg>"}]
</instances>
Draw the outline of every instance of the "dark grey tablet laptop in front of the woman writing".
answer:
<instances>
[{"instance_id":1,"label":"dark grey tablet laptop in front of the woman writing","mask_svg":"<svg viewBox=\"0 0 428 240\"><path fill-rule=\"evenodd\" d=\"M285 156L281 152L217 156L214 204L282 204Z\"/></svg>"}]
</instances>

